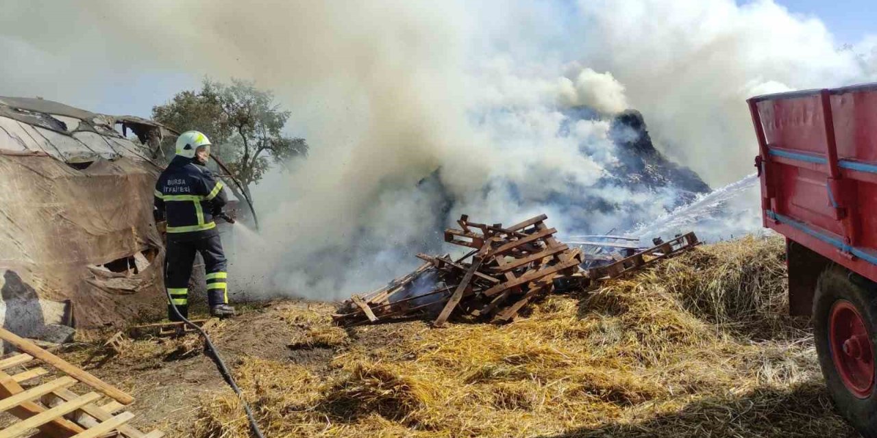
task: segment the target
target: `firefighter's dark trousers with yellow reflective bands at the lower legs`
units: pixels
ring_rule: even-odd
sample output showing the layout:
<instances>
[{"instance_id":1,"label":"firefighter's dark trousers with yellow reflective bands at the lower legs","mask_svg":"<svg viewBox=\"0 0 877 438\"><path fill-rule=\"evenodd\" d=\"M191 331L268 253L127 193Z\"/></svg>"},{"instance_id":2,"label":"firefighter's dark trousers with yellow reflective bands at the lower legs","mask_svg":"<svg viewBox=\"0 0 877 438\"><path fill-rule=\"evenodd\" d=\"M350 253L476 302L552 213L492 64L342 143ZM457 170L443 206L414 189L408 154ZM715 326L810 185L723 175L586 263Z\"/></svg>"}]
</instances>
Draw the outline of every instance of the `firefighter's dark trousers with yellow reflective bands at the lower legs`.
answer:
<instances>
[{"instance_id":1,"label":"firefighter's dark trousers with yellow reflective bands at the lower legs","mask_svg":"<svg viewBox=\"0 0 877 438\"><path fill-rule=\"evenodd\" d=\"M203 237L190 241L174 241L168 239L168 255L165 261L165 287L170 293L168 303L168 319L180 321L174 313L176 306L180 314L189 318L189 278L192 276L192 265L195 253L200 252L204 259L204 272L207 279L207 302L210 307L228 304L228 293L225 281L225 253L219 236Z\"/></svg>"}]
</instances>

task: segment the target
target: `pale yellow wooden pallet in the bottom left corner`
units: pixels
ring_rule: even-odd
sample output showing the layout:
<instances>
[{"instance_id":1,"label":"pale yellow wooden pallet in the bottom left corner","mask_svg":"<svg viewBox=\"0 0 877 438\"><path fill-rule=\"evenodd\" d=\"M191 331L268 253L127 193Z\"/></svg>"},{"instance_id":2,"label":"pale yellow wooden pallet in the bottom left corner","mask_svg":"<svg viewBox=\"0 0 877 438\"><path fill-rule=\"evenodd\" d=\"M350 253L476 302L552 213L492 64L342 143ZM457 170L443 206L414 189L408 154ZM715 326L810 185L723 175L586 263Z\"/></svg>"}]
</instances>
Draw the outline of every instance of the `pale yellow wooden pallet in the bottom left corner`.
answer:
<instances>
[{"instance_id":1,"label":"pale yellow wooden pallet in the bottom left corner","mask_svg":"<svg viewBox=\"0 0 877 438\"><path fill-rule=\"evenodd\" d=\"M134 414L121 411L134 402L132 396L10 331L0 329L0 339L18 350L0 360L0 410L19 419L0 430L0 438L28 436L34 429L39 429L40 436L53 438L164 436L157 430L146 434L127 425ZM24 371L11 374L11 369ZM45 378L50 370L61 377L41 380L26 390L21 385ZM69 389L79 384L92 391L80 395ZM101 403L104 397L110 400Z\"/></svg>"}]
</instances>

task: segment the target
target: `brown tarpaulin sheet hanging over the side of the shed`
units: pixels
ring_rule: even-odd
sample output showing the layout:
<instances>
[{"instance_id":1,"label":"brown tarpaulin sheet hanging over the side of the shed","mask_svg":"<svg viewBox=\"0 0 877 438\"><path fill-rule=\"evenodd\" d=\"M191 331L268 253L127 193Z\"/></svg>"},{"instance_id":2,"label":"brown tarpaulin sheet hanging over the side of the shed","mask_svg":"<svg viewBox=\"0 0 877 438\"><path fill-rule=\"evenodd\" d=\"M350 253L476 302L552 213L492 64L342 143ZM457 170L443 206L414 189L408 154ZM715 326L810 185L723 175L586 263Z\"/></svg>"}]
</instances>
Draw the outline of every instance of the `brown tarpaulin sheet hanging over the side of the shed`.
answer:
<instances>
[{"instance_id":1,"label":"brown tarpaulin sheet hanging over the side of the shed","mask_svg":"<svg viewBox=\"0 0 877 438\"><path fill-rule=\"evenodd\" d=\"M77 170L49 157L0 154L0 288L17 277L39 300L71 300L78 325L163 313L157 175L132 159ZM140 272L93 268L139 251L156 254Z\"/></svg>"}]
</instances>

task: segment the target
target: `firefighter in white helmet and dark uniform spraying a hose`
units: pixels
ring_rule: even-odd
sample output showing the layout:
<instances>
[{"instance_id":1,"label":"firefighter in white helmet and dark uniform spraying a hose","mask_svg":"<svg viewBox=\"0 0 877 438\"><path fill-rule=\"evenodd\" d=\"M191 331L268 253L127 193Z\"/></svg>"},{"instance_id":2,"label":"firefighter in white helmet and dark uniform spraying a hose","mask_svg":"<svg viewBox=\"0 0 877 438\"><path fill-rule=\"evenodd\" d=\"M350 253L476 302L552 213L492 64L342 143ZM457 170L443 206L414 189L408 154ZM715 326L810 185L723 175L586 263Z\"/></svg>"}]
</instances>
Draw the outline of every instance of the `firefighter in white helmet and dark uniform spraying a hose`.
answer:
<instances>
[{"instance_id":1,"label":"firefighter in white helmet and dark uniform spraying a hose","mask_svg":"<svg viewBox=\"0 0 877 438\"><path fill-rule=\"evenodd\" d=\"M176 139L176 156L155 184L157 218L168 221L168 252L165 259L165 287L170 293L168 319L189 317L189 277L195 253L204 260L210 314L232 316L228 305L225 253L219 241L214 216L222 212L226 198L222 181L205 166L210 159L210 140L198 131L183 132Z\"/></svg>"}]
</instances>

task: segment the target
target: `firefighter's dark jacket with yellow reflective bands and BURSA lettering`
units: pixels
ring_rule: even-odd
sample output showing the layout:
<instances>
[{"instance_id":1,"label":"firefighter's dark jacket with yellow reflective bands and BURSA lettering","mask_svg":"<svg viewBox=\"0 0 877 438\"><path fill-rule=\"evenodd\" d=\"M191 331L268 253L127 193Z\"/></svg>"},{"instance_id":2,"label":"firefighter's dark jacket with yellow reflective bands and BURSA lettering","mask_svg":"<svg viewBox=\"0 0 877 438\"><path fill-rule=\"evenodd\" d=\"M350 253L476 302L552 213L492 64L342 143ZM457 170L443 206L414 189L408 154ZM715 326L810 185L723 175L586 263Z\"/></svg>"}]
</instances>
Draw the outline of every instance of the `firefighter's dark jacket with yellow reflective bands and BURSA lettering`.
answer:
<instances>
[{"instance_id":1,"label":"firefighter's dark jacket with yellow reflective bands and BURSA lettering","mask_svg":"<svg viewBox=\"0 0 877 438\"><path fill-rule=\"evenodd\" d=\"M155 183L155 208L168 221L168 239L181 241L218 234L213 215L226 198L222 181L194 159L176 156Z\"/></svg>"}]
</instances>

